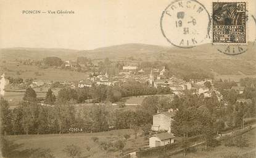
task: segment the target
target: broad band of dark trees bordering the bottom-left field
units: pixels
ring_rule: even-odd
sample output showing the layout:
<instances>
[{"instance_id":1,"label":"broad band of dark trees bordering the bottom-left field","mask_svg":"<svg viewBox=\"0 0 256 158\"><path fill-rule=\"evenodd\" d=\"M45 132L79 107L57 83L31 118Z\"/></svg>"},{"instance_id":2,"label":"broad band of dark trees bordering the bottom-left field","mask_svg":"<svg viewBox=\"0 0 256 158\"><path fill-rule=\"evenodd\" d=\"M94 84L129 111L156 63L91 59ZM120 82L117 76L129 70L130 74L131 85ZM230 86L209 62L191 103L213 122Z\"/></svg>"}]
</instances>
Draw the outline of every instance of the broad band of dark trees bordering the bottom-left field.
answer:
<instances>
[{"instance_id":1,"label":"broad band of dark trees bordering the bottom-left field","mask_svg":"<svg viewBox=\"0 0 256 158\"><path fill-rule=\"evenodd\" d=\"M10 109L8 102L1 98L2 132L7 135L67 133L70 132L69 128L82 128L83 132L101 132L152 124L152 113L156 111L145 111L142 108L137 108L136 111L115 110L112 104L105 102L109 98L116 99L117 92L113 89L100 85L93 95L101 97L101 102L78 107L75 103L84 101L93 89L64 88L59 90L57 97L49 89L44 100L46 105L54 105L49 107L41 106L35 90L28 87L17 108ZM121 97L122 93L119 93L118 97ZM143 102L143 106L147 107L149 98Z\"/></svg>"}]
</instances>

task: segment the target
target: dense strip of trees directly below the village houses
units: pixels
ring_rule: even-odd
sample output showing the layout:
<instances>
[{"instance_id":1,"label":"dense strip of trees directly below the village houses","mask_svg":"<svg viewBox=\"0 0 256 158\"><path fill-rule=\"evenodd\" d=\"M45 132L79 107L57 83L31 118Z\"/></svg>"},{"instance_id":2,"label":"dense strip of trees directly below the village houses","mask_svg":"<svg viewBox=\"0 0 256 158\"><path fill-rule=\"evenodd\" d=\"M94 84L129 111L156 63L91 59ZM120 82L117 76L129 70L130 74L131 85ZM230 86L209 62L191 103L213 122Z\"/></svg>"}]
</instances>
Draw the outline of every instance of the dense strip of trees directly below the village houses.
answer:
<instances>
[{"instance_id":1,"label":"dense strip of trees directly below the village houses","mask_svg":"<svg viewBox=\"0 0 256 158\"><path fill-rule=\"evenodd\" d=\"M104 101L117 102L123 97L139 95L155 95L172 93L168 87L151 87L136 81L118 82L114 86L93 85L83 89L64 88L59 90L59 98L64 100L73 100L76 103L85 103L86 100L92 99L94 103Z\"/></svg>"}]
</instances>

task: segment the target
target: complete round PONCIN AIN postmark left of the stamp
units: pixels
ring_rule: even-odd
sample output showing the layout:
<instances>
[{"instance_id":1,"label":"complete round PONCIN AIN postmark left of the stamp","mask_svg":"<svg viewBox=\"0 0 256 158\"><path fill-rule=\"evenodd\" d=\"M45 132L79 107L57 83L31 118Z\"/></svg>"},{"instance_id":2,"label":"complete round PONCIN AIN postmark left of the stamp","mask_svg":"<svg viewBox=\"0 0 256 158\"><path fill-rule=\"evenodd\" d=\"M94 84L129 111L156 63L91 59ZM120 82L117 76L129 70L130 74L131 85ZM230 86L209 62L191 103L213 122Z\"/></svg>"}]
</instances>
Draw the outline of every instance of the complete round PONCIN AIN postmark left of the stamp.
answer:
<instances>
[{"instance_id":1,"label":"complete round PONCIN AIN postmark left of the stamp","mask_svg":"<svg viewBox=\"0 0 256 158\"><path fill-rule=\"evenodd\" d=\"M176 0L162 12L160 27L170 44L191 48L210 38L211 18L204 5L196 0Z\"/></svg>"}]
</instances>

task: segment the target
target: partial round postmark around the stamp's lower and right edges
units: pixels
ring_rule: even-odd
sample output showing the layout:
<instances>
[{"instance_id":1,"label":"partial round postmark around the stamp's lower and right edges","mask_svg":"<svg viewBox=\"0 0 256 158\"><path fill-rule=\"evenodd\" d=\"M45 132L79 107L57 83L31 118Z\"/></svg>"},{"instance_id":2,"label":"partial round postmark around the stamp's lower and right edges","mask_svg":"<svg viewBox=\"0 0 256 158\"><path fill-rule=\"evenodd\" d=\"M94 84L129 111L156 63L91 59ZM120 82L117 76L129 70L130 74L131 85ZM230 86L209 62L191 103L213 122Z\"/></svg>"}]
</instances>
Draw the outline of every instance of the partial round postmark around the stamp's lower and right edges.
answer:
<instances>
[{"instance_id":1,"label":"partial round postmark around the stamp's lower and right edges","mask_svg":"<svg viewBox=\"0 0 256 158\"><path fill-rule=\"evenodd\" d=\"M247 31L256 30L256 18L254 17L254 15L248 14L246 18L246 23ZM220 53L224 53L226 55L239 55L247 52L248 50L252 49L252 47L254 47L256 42L255 31L251 31L249 36L252 37L252 39L251 41L247 42L247 44L213 44L213 46Z\"/></svg>"}]
</instances>

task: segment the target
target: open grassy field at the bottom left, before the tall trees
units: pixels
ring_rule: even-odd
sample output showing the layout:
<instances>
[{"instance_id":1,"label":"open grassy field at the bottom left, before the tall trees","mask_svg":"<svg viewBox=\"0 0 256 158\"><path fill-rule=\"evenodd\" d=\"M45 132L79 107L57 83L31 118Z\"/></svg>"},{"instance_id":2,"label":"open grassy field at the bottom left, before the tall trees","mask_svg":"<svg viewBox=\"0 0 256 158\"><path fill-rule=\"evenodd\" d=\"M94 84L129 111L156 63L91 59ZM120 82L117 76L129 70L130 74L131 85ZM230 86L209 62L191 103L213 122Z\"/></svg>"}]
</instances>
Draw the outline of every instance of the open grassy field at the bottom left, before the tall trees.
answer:
<instances>
[{"instance_id":1,"label":"open grassy field at the bottom left, before the tall trees","mask_svg":"<svg viewBox=\"0 0 256 158\"><path fill-rule=\"evenodd\" d=\"M115 141L118 138L123 139L124 134L131 134L130 129L126 130L112 130L109 132L99 132L99 133L70 133L70 134L51 134L51 135L18 135L18 136L7 136L7 140L13 141L15 144L20 144L18 151L26 151L26 149L51 149L52 153L56 158L66 157L65 153L62 151L65 146L70 144L75 144L80 146L82 150L82 157L104 157L105 153L99 148L99 143L94 142L91 138L97 136L99 142L101 141ZM142 148L146 146L148 139L144 139L142 136L138 136L137 139L131 134L131 138L128 139L124 153L131 152L134 149ZM86 151L86 146L89 146L90 151ZM107 153L107 157L119 156L120 151L113 149ZM18 157L23 157L22 154Z\"/></svg>"}]
</instances>

